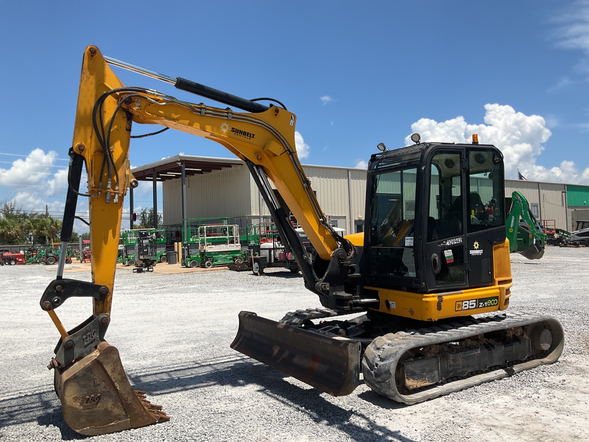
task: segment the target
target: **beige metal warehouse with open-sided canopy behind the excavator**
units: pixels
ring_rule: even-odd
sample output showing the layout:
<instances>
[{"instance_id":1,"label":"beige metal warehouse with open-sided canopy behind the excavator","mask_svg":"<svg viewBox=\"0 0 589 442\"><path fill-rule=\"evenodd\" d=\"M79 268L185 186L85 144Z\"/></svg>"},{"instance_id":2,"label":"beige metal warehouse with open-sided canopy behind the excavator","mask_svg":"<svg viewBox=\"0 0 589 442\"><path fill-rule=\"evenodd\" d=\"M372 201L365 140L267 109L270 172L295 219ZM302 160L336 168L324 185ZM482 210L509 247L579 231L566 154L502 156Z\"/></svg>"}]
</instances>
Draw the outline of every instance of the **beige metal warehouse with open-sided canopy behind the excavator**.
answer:
<instances>
[{"instance_id":1,"label":"beige metal warehouse with open-sided canopy behind the excavator","mask_svg":"<svg viewBox=\"0 0 589 442\"><path fill-rule=\"evenodd\" d=\"M303 164L303 169L332 225L345 229L346 234L362 229L366 170L310 164ZM269 216L249 170L239 159L176 155L132 172L138 180L163 183L164 226L181 225L183 218ZM157 210L155 185L153 189ZM571 232L575 220L589 219L589 186L505 180L505 196L510 198L514 190L524 194L537 219L554 220L560 229ZM133 207L133 192L130 198Z\"/></svg>"}]
</instances>

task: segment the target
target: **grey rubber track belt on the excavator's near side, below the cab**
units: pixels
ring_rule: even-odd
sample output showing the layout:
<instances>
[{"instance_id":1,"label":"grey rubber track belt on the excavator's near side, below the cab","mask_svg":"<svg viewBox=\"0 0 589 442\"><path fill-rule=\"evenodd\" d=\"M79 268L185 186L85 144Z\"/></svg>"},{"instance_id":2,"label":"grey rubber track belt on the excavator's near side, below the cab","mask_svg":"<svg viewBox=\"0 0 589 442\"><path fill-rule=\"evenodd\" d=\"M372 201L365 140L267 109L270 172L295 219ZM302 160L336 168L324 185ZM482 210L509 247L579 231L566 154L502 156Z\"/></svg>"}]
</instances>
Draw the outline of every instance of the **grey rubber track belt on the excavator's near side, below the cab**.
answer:
<instances>
[{"instance_id":1,"label":"grey rubber track belt on the excavator's near side, below the cab","mask_svg":"<svg viewBox=\"0 0 589 442\"><path fill-rule=\"evenodd\" d=\"M412 394L403 395L398 391L395 382L395 368L406 351L421 348L426 345L455 342L461 339L475 337L492 331L527 326L535 322L548 322L552 332L552 345L548 355L544 358L514 364L498 370L472 375L462 380L436 384L427 390L420 390ZM364 382L372 390L392 400L408 405L420 403L440 395L464 390L475 385L498 380L520 371L530 370L539 365L552 364L557 361L564 347L562 326L552 316L511 312L469 321L451 322L431 328L420 328L408 332L397 332L378 337L366 348L362 359Z\"/></svg>"}]
</instances>

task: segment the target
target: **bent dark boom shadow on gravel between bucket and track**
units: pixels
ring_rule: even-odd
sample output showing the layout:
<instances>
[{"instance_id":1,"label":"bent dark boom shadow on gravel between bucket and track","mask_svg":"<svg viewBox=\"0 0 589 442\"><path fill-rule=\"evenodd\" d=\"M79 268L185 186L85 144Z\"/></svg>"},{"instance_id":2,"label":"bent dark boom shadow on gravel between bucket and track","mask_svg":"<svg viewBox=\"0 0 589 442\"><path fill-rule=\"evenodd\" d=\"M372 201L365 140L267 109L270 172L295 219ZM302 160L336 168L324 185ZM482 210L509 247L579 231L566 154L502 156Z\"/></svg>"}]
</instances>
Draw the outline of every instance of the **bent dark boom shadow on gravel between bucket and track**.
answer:
<instances>
[{"instance_id":1,"label":"bent dark boom shadow on gravel between bucket and track","mask_svg":"<svg viewBox=\"0 0 589 442\"><path fill-rule=\"evenodd\" d=\"M217 363L213 359L210 364L201 362L198 367L193 367L190 363L183 365L185 367L174 367L171 370L162 367L162 370L158 372L146 375L129 375L129 378L134 388L148 389L153 397L170 391L193 390L214 387L214 385L235 388L247 384L259 385L263 389L261 392L268 398L299 411L299 413L306 414L316 424L325 424L326 422L330 427L343 431L354 440L386 440L388 437L403 442L412 441L410 438L402 436L399 431L391 431L382 425L374 423L362 412L345 410L332 404L323 398L322 392L316 390L316 388L300 388L287 382L284 380L287 375L259 362L233 360L227 363ZM190 372L192 373L190 374ZM179 378L179 375L182 377ZM143 380L144 378L149 380ZM362 400L380 408L393 410L407 406L397 404L386 398L380 398L379 400L376 396L376 393L373 392L364 392L359 395ZM158 401L164 403L163 399ZM364 425L360 426L350 422L352 415L356 419L363 420ZM369 427L369 430L366 430L366 427Z\"/></svg>"}]
</instances>

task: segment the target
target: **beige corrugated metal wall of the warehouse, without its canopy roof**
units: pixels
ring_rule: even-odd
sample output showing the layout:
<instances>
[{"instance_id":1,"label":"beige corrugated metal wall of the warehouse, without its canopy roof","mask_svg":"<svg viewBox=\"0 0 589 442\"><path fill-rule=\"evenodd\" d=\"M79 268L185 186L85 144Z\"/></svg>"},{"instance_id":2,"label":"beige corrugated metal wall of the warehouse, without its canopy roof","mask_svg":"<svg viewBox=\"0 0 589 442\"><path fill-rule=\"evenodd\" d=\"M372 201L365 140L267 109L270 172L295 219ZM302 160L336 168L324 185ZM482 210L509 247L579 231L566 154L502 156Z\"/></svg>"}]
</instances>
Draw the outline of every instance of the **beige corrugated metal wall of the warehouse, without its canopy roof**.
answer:
<instances>
[{"instance_id":1,"label":"beige corrugated metal wall of the warehouse, without its canopy roof","mask_svg":"<svg viewBox=\"0 0 589 442\"><path fill-rule=\"evenodd\" d=\"M317 193L323 212L326 215L345 216L346 230L353 232L353 221L365 216L366 170L322 166L303 166L303 169ZM188 217L259 216L260 202L263 207L262 216L269 215L266 204L260 198L253 178L245 166L234 166L231 169L187 177L187 186ZM540 183L538 189L537 182L505 180L505 196L511 197L511 193L518 190L530 204L539 205L540 219L554 219L557 227L567 229L567 197L562 192L571 192L571 187L579 187L583 192L589 189L586 186L553 183ZM573 193L581 194L581 190L573 189ZM163 183L163 200L164 225L180 224L180 179ZM571 201L569 193L568 204L580 205L574 202L577 201Z\"/></svg>"}]
</instances>

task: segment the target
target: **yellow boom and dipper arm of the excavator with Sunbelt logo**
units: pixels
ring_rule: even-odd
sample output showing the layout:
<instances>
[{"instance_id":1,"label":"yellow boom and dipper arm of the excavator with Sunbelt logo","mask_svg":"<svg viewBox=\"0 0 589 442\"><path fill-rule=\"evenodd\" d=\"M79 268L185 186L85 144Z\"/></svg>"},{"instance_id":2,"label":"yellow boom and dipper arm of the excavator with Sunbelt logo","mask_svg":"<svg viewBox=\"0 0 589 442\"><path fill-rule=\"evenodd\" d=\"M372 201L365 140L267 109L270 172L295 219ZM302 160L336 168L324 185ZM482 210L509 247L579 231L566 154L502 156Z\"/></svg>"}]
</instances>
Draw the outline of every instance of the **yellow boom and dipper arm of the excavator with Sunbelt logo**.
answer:
<instances>
[{"instance_id":1,"label":"yellow boom and dipper arm of the excavator with Sunbelt logo","mask_svg":"<svg viewBox=\"0 0 589 442\"><path fill-rule=\"evenodd\" d=\"M118 184L118 190L112 192L111 202L106 202L107 172L102 170L104 153L92 127L91 116L102 94L123 86L98 48L88 47L82 64L72 146L75 153L84 156L88 171L88 192L96 196L90 197L92 281L110 289L104 301L94 302L94 315L108 314L111 308L123 199L130 180L128 150L131 121L159 124L209 138L225 146L241 160L259 165L292 210L319 257L330 259L338 245L325 226L325 215L321 212L296 154L296 116L283 108L270 107L265 112L255 114L237 113L229 108L221 110L203 104L170 100L172 97L163 98L155 91L151 91L151 94L121 91L108 96L102 106L104 126L108 126L120 104L110 132L110 149L120 182L115 183L113 174L112 188ZM115 193L118 198L114 196Z\"/></svg>"}]
</instances>

